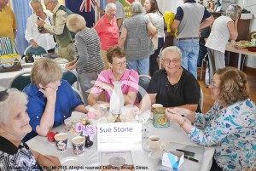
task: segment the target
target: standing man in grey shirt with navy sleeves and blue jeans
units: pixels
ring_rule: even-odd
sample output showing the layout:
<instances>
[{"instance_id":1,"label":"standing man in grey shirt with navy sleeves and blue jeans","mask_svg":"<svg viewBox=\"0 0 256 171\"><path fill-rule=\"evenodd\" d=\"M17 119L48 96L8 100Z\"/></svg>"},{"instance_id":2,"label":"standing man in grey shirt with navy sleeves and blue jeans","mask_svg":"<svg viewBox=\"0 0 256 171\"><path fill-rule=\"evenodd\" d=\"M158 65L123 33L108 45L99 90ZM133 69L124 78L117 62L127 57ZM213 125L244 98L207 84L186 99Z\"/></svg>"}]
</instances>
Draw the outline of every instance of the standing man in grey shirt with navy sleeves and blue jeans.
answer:
<instances>
[{"instance_id":1,"label":"standing man in grey shirt with navy sleeves and blue jeans","mask_svg":"<svg viewBox=\"0 0 256 171\"><path fill-rule=\"evenodd\" d=\"M177 8L171 31L177 29L177 47L183 53L183 68L189 70L197 79L197 58L201 29L210 26L214 21L212 14L195 0L183 0ZM202 22L201 22L202 21Z\"/></svg>"}]
</instances>

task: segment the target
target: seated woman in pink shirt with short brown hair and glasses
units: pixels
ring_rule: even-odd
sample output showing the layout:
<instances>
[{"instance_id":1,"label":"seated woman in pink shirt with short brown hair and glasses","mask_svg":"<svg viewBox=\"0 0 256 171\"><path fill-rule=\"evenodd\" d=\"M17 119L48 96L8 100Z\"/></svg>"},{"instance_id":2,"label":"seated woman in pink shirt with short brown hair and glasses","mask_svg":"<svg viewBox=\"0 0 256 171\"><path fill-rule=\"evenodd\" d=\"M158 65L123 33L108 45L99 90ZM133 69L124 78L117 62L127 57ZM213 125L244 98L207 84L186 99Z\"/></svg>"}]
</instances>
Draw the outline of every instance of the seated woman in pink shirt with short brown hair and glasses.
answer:
<instances>
[{"instance_id":1,"label":"seated woman in pink shirt with short brown hair and glasses","mask_svg":"<svg viewBox=\"0 0 256 171\"><path fill-rule=\"evenodd\" d=\"M97 100L104 91L106 101L109 102L113 90L113 82L122 82L125 105L137 104L139 77L137 71L126 69L125 51L119 46L108 48L107 59L110 69L102 71L97 78L88 96L89 104L91 106L97 105Z\"/></svg>"}]
</instances>

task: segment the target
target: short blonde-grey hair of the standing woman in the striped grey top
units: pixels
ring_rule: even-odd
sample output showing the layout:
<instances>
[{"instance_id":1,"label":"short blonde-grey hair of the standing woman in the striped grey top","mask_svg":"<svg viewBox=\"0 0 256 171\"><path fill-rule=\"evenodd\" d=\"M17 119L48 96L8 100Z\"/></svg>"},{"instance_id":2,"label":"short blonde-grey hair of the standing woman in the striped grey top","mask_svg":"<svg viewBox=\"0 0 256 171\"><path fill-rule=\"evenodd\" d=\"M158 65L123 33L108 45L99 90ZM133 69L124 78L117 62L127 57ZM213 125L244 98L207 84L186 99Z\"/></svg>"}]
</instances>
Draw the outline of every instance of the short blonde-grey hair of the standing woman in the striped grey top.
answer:
<instances>
[{"instance_id":1,"label":"short blonde-grey hair of the standing woman in the striped grey top","mask_svg":"<svg viewBox=\"0 0 256 171\"><path fill-rule=\"evenodd\" d=\"M67 16L67 28L74 33L78 33L86 26L84 17L79 14L70 14Z\"/></svg>"}]
</instances>

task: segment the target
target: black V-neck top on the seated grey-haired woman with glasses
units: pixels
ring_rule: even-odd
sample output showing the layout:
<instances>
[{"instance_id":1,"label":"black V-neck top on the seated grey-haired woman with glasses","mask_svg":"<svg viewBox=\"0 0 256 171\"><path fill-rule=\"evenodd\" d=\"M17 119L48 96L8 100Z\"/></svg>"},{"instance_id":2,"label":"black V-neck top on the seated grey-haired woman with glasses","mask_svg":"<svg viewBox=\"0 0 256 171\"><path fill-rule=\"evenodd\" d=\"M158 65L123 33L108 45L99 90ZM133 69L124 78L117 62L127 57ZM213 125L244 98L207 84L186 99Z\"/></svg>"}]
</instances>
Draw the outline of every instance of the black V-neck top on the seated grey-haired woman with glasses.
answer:
<instances>
[{"instance_id":1,"label":"black V-neck top on the seated grey-haired woman with glasses","mask_svg":"<svg viewBox=\"0 0 256 171\"><path fill-rule=\"evenodd\" d=\"M195 77L185 69L183 69L180 80L174 85L169 82L165 69L155 71L147 92L157 94L156 103L164 107L198 104L200 100L200 85ZM196 111L200 111L199 105Z\"/></svg>"}]
</instances>

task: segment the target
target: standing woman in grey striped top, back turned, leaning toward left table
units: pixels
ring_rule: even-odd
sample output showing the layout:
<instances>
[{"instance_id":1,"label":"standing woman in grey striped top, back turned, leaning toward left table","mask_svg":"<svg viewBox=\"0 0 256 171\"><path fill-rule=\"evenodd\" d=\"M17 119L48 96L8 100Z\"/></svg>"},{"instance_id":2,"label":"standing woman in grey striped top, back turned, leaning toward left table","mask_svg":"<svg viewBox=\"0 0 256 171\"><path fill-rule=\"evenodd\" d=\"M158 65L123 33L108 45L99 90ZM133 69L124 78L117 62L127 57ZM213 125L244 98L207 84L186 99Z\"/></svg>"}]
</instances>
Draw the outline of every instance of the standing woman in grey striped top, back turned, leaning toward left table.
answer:
<instances>
[{"instance_id":1,"label":"standing woman in grey striped top, back turned, leaning toward left table","mask_svg":"<svg viewBox=\"0 0 256 171\"><path fill-rule=\"evenodd\" d=\"M79 58L67 63L66 68L77 69L84 105L88 105L89 89L93 86L90 82L96 80L104 68L100 38L94 28L86 27L84 17L79 14L68 15L67 28L76 33L75 45L79 51Z\"/></svg>"}]
</instances>

